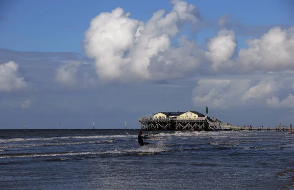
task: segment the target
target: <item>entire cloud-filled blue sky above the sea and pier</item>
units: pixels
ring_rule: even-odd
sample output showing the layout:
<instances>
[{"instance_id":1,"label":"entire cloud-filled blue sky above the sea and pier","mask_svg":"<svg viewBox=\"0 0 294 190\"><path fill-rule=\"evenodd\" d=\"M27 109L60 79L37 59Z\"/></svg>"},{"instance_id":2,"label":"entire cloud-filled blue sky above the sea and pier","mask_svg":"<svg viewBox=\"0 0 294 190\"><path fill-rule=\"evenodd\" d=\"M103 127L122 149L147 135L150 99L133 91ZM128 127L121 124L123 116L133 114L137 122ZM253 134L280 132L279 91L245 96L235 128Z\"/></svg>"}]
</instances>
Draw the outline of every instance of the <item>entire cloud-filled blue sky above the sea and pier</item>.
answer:
<instances>
[{"instance_id":1,"label":"entire cloud-filled blue sky above the sea and pier","mask_svg":"<svg viewBox=\"0 0 294 190\"><path fill-rule=\"evenodd\" d=\"M33 128L53 128L59 120L66 128L84 128L88 124L91 127L92 121L102 128L120 128L125 120L130 127L138 128L137 117L151 112L166 109L204 112L205 106L221 120L235 125L247 125L247 120L256 126L292 122L294 108L287 105L293 101L293 55L281 56L267 67L258 65L294 43L291 40L294 3L290 0L186 2L196 6L193 10L200 12L200 23L191 24L181 16L186 12L180 13L169 0L1 1L0 86L11 88L0 88L0 113L4 123L0 128L19 128L24 120ZM130 16L126 16L130 27L120 26L120 31L126 32L124 34L116 33L118 29L109 29L117 24L118 20L113 17L103 25L94 19L117 7L130 12ZM178 11L174 18L177 22L170 20L165 27L151 23L148 27L158 28L159 34L152 33L147 27L144 30L145 36L152 35L152 39L158 40L153 49L150 43L143 44L143 37L141 42L122 39L135 36L139 21L146 24L154 12L165 9L168 14L173 8ZM199 19L195 12L189 14L193 19ZM220 26L218 23L223 14L230 18ZM99 27L89 28L91 22ZM174 24L179 27L176 36L172 36ZM164 31L169 27L169 31ZM281 29L270 30L273 27ZM105 35L116 39L115 42L99 38L97 35L103 33L99 28L104 28ZM121 34L123 37L116 38ZM167 45L167 40L171 44L180 43L182 34L186 34L194 45L188 41L183 42L181 48ZM145 40L151 42L152 39ZM248 48L247 39L261 39L259 52L254 52L256 48L254 51ZM99 49L102 46L105 46L105 52ZM149 47L154 52L150 53L148 49L139 52L139 47ZM267 47L271 47L270 50ZM240 49L244 50L242 54ZM112 51L127 56L121 57L121 61L104 56ZM148 64L141 56L149 58ZM259 62L252 58L256 56L259 56ZM9 61L13 63L5 64ZM255 69L259 73L249 76ZM245 81L238 82L236 89L225 90L225 84L240 78ZM220 93L215 102L205 102L215 93ZM176 101L178 97L183 97L182 101ZM255 111L249 111L252 109ZM116 119L110 119L113 114L117 115ZM269 120L270 115L276 115L278 119Z\"/></svg>"}]
</instances>

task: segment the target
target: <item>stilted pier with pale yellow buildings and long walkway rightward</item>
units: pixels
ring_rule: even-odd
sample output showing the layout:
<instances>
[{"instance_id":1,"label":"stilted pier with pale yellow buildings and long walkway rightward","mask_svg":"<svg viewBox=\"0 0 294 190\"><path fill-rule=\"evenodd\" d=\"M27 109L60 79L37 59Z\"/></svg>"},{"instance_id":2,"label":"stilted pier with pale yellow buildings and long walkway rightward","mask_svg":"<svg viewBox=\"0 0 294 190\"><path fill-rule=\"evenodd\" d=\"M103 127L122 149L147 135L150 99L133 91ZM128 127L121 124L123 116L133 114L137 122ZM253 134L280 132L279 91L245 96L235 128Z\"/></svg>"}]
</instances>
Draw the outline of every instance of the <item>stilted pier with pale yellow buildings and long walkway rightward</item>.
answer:
<instances>
[{"instance_id":1,"label":"stilted pier with pale yellow buildings and long walkway rightward","mask_svg":"<svg viewBox=\"0 0 294 190\"><path fill-rule=\"evenodd\" d=\"M283 126L280 123L277 127L252 127L233 126L224 123L217 118L210 118L197 111L186 112L158 112L147 116L139 117L140 129L142 131L280 131L292 132L292 124Z\"/></svg>"}]
</instances>

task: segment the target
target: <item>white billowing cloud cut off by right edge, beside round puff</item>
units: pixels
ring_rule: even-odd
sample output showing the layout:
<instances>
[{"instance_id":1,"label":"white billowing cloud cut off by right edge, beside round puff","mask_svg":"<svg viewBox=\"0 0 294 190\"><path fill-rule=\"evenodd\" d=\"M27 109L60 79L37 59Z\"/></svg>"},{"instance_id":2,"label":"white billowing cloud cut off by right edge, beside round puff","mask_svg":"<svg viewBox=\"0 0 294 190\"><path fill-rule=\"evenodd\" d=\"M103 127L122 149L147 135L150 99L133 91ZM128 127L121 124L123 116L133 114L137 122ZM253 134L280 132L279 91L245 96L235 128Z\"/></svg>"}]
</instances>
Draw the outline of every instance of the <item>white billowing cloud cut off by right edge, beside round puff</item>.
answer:
<instances>
[{"instance_id":1,"label":"white billowing cloud cut off by right edge, beside round puff","mask_svg":"<svg viewBox=\"0 0 294 190\"><path fill-rule=\"evenodd\" d=\"M240 49L236 60L236 66L243 71L294 69L294 54L293 51L288 51L294 46L294 27L288 30L274 27L259 39L248 39L246 44L249 48ZM280 54L282 55L279 56ZM270 61L271 59L273 60Z\"/></svg>"}]
</instances>

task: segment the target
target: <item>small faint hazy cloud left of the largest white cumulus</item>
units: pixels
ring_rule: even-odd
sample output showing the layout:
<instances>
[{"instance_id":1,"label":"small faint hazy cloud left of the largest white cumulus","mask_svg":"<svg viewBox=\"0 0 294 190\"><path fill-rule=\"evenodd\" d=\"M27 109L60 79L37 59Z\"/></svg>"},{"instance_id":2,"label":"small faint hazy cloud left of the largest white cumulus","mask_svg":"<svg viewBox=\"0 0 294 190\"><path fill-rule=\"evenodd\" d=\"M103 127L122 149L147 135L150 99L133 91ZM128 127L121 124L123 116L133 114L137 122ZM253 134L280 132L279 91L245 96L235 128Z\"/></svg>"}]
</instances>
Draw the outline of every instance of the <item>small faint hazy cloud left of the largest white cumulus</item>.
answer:
<instances>
[{"instance_id":1,"label":"small faint hazy cloud left of the largest white cumulus","mask_svg":"<svg viewBox=\"0 0 294 190\"><path fill-rule=\"evenodd\" d=\"M81 62L71 61L60 65L55 71L55 82L62 83L67 86L73 86L77 82L76 72Z\"/></svg>"}]
</instances>

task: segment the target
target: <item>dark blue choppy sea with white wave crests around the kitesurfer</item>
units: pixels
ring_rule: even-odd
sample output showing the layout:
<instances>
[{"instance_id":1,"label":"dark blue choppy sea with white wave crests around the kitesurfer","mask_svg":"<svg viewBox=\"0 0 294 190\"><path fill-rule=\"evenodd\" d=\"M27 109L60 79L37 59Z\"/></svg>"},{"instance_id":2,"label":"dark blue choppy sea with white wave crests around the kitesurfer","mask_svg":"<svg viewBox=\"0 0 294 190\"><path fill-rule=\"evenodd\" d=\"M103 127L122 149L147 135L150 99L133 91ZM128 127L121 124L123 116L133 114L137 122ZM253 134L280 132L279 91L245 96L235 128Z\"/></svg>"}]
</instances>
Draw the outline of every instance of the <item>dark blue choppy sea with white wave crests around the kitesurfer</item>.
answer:
<instances>
[{"instance_id":1,"label":"dark blue choppy sea with white wave crests around the kitesurfer","mask_svg":"<svg viewBox=\"0 0 294 190\"><path fill-rule=\"evenodd\" d=\"M294 189L294 134L138 131L0 130L0 189Z\"/></svg>"}]
</instances>

